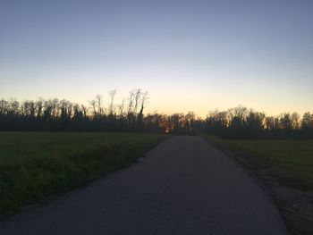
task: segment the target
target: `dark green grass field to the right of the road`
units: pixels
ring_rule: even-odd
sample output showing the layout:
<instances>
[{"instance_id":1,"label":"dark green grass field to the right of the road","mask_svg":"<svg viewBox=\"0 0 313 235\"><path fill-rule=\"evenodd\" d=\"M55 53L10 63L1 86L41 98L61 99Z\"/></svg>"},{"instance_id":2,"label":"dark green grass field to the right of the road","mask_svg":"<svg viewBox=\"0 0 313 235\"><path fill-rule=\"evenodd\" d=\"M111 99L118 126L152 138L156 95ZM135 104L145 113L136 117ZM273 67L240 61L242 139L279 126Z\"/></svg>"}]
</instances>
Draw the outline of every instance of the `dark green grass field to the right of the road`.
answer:
<instances>
[{"instance_id":1,"label":"dark green grass field to the right of the road","mask_svg":"<svg viewBox=\"0 0 313 235\"><path fill-rule=\"evenodd\" d=\"M204 138L236 154L262 177L274 177L296 189L313 191L313 140Z\"/></svg>"}]
</instances>

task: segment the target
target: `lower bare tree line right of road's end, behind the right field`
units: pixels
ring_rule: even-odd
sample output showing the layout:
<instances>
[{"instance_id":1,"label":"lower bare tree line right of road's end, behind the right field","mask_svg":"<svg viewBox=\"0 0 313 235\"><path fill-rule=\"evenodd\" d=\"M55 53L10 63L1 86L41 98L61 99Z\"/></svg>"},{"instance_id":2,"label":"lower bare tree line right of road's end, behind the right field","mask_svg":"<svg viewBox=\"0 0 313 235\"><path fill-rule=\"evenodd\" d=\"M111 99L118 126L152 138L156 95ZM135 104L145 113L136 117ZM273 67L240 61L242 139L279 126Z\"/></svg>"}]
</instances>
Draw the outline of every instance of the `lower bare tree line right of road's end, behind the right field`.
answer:
<instances>
[{"instance_id":1,"label":"lower bare tree line right of road's end, behind the right field","mask_svg":"<svg viewBox=\"0 0 313 235\"><path fill-rule=\"evenodd\" d=\"M313 138L313 113L265 113L237 106L207 115L206 132L225 138Z\"/></svg>"}]
</instances>

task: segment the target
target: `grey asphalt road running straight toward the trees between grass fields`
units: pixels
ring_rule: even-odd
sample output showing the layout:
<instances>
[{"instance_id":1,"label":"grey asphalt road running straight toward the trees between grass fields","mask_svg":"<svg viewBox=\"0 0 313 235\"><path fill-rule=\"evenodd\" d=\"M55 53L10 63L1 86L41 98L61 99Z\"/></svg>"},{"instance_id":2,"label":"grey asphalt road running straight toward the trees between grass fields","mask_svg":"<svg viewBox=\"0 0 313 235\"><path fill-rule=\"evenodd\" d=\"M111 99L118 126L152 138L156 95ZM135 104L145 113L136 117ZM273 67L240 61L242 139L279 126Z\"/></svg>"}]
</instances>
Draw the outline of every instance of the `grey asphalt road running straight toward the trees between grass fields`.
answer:
<instances>
[{"instance_id":1,"label":"grey asphalt road running straight toward the trees between grass fields","mask_svg":"<svg viewBox=\"0 0 313 235\"><path fill-rule=\"evenodd\" d=\"M1 235L286 233L270 198L241 166L187 136L0 223Z\"/></svg>"}]
</instances>

